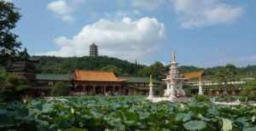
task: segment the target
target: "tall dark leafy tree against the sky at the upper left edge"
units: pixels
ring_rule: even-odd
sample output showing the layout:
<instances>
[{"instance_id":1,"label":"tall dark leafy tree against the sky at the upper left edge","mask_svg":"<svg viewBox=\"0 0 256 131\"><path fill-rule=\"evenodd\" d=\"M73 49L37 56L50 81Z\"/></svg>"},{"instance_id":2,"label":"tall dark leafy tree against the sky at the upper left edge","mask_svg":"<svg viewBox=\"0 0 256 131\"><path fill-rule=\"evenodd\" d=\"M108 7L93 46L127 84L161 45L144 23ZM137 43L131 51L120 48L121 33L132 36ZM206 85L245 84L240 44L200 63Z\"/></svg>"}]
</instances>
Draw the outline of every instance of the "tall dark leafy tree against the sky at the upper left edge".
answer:
<instances>
[{"instance_id":1,"label":"tall dark leafy tree against the sky at the upper left edge","mask_svg":"<svg viewBox=\"0 0 256 131\"><path fill-rule=\"evenodd\" d=\"M11 32L18 20L20 14L14 3L0 1L0 65L8 65L20 48L18 36Z\"/></svg>"}]
</instances>

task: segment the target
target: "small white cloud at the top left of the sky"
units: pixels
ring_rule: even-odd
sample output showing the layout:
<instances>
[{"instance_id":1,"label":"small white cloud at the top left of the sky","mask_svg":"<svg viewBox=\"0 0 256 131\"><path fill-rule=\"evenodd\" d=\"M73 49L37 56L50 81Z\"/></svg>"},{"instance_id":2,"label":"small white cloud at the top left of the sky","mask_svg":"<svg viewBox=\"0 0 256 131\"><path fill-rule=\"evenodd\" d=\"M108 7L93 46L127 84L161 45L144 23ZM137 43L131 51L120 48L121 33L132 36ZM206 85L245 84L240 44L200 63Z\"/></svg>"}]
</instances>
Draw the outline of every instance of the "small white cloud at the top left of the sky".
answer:
<instances>
[{"instance_id":1,"label":"small white cloud at the top left of the sky","mask_svg":"<svg viewBox=\"0 0 256 131\"><path fill-rule=\"evenodd\" d=\"M78 1L79 2L79 1ZM71 7L66 0L56 0L47 5L47 9L55 14L61 15L61 20L73 21L73 7Z\"/></svg>"}]
</instances>

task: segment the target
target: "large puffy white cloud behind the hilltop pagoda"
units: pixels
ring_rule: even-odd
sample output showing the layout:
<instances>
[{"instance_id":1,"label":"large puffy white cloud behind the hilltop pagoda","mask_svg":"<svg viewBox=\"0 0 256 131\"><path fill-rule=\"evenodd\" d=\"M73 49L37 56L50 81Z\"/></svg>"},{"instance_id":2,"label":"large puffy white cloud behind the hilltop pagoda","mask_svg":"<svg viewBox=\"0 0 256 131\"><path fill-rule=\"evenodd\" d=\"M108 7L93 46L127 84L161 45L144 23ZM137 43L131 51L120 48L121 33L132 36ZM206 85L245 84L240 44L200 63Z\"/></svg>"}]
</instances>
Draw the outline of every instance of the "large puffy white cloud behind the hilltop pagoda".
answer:
<instances>
[{"instance_id":1,"label":"large puffy white cloud behind the hilltop pagoda","mask_svg":"<svg viewBox=\"0 0 256 131\"><path fill-rule=\"evenodd\" d=\"M165 37L164 24L154 18L131 20L98 20L86 25L72 39L55 38L59 50L44 55L83 56L89 53L89 45L96 43L102 55L135 60L152 53ZM150 55L149 55L150 56Z\"/></svg>"}]
</instances>

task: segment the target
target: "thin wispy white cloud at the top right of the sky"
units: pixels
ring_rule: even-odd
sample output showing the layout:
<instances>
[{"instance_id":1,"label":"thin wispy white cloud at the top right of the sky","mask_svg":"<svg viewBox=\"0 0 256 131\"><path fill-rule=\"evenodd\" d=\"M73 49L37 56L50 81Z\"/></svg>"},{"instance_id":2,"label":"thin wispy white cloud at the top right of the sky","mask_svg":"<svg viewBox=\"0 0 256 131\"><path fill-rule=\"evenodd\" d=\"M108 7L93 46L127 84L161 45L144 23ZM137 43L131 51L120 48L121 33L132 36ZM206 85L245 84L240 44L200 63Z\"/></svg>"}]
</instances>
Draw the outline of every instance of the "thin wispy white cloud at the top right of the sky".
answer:
<instances>
[{"instance_id":1,"label":"thin wispy white cloud at the top right of the sky","mask_svg":"<svg viewBox=\"0 0 256 131\"><path fill-rule=\"evenodd\" d=\"M230 24L244 13L220 0L170 0L184 28Z\"/></svg>"}]
</instances>

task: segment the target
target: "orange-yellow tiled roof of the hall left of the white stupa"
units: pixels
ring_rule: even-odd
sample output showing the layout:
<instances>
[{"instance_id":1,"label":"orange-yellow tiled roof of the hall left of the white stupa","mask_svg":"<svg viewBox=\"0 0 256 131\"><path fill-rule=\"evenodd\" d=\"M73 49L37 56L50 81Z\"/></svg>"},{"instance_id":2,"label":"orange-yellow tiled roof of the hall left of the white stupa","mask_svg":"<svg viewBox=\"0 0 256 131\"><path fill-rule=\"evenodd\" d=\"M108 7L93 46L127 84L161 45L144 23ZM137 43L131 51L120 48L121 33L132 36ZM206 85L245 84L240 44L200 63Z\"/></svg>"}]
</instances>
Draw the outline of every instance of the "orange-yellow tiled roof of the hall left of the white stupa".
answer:
<instances>
[{"instance_id":1,"label":"orange-yellow tiled roof of the hall left of the white stupa","mask_svg":"<svg viewBox=\"0 0 256 131\"><path fill-rule=\"evenodd\" d=\"M84 71L76 70L74 73L75 81L90 82L123 82L125 79L118 78L112 71Z\"/></svg>"}]
</instances>

